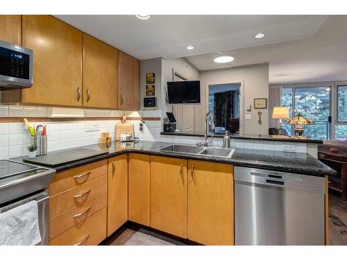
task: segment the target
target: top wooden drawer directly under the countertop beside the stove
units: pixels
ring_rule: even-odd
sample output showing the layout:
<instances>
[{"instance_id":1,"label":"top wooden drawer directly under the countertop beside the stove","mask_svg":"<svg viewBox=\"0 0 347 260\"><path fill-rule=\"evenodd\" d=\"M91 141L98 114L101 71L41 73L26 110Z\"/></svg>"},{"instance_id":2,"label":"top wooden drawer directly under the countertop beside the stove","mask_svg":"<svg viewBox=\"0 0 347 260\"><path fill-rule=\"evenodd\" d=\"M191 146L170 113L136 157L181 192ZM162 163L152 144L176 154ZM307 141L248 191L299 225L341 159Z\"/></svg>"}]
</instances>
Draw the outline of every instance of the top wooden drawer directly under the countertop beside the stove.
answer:
<instances>
[{"instance_id":1,"label":"top wooden drawer directly under the countertop beside the stove","mask_svg":"<svg viewBox=\"0 0 347 260\"><path fill-rule=\"evenodd\" d=\"M67 171L57 173L49 185L49 196L53 196L67 189L74 188L78 185L94 180L96 177L106 175L108 173L108 161L93 162Z\"/></svg>"}]
</instances>

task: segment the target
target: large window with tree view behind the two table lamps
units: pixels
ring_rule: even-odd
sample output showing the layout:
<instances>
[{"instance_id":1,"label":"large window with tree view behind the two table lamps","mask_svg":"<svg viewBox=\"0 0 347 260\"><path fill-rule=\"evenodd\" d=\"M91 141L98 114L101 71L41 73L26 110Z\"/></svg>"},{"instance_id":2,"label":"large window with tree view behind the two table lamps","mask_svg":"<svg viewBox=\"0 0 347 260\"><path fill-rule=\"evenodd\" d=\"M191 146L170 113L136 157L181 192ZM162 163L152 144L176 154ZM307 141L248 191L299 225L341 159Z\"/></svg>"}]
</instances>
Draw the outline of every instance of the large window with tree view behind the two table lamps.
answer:
<instances>
[{"instance_id":1,"label":"large window with tree view behind the two table lamps","mask_svg":"<svg viewBox=\"0 0 347 260\"><path fill-rule=\"evenodd\" d=\"M282 106L289 107L289 116L298 113L314 121L303 125L304 134L318 139L329 139L330 87L291 87L282 89ZM293 133L294 126L285 125Z\"/></svg>"}]
</instances>

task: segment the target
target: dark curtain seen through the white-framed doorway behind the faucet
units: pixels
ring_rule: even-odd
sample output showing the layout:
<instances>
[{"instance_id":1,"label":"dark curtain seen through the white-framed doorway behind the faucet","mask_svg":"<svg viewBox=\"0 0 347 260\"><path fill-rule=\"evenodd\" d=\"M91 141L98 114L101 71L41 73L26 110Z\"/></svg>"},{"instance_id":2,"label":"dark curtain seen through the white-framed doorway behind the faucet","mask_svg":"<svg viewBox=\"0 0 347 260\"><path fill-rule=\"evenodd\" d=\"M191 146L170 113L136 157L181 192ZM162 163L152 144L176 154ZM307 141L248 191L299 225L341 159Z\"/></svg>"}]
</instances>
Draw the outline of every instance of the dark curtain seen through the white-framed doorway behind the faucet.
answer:
<instances>
[{"instance_id":1,"label":"dark curtain seen through the white-framed doorway behind the faucet","mask_svg":"<svg viewBox=\"0 0 347 260\"><path fill-rule=\"evenodd\" d=\"M228 130L228 122L233 114L234 92L214 93L214 123Z\"/></svg>"}]
</instances>

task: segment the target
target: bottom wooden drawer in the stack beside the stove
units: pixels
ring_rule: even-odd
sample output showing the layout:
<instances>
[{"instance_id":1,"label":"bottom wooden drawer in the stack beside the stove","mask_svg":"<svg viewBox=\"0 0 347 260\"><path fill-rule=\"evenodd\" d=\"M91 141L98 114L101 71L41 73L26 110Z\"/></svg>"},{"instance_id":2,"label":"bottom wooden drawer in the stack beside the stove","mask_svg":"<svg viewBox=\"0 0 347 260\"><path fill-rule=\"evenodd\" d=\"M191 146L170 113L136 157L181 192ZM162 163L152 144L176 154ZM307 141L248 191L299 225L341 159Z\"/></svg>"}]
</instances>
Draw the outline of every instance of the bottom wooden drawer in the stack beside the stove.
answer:
<instances>
[{"instance_id":1,"label":"bottom wooden drawer in the stack beside the stove","mask_svg":"<svg viewBox=\"0 0 347 260\"><path fill-rule=\"evenodd\" d=\"M98 245L106 238L106 218L107 209L104 207L49 241L49 245Z\"/></svg>"}]
</instances>

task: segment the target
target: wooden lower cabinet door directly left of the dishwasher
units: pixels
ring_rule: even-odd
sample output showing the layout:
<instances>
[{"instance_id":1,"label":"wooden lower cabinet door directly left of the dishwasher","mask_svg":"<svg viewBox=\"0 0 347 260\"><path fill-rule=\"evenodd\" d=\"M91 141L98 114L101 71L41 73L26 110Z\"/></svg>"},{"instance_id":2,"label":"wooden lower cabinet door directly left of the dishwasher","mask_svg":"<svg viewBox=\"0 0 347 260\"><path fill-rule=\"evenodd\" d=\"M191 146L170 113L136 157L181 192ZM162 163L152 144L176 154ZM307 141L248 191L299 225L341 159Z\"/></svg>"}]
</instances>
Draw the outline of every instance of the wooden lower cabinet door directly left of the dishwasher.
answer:
<instances>
[{"instance_id":1,"label":"wooden lower cabinet door directly left of the dishwasher","mask_svg":"<svg viewBox=\"0 0 347 260\"><path fill-rule=\"evenodd\" d=\"M188 239L233 245L233 166L194 160L188 166Z\"/></svg>"}]
</instances>

